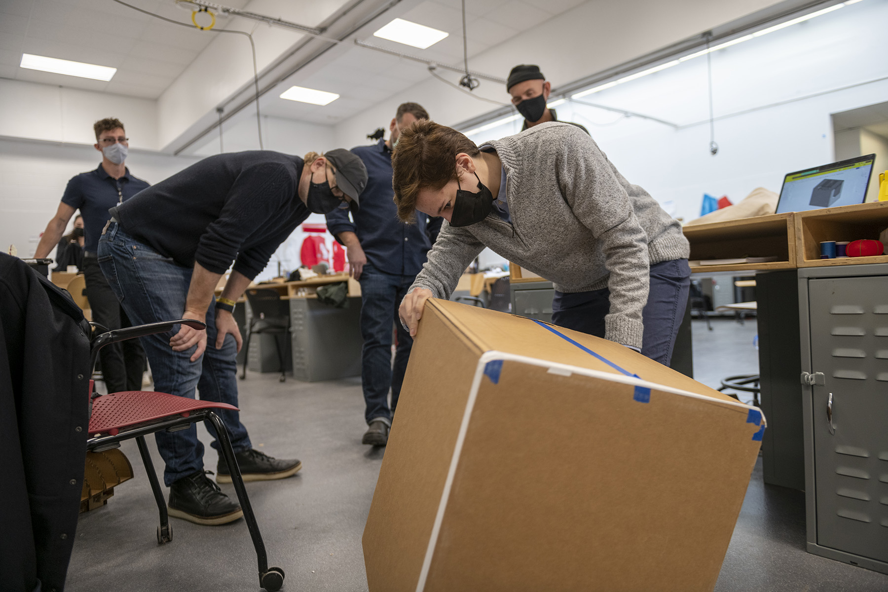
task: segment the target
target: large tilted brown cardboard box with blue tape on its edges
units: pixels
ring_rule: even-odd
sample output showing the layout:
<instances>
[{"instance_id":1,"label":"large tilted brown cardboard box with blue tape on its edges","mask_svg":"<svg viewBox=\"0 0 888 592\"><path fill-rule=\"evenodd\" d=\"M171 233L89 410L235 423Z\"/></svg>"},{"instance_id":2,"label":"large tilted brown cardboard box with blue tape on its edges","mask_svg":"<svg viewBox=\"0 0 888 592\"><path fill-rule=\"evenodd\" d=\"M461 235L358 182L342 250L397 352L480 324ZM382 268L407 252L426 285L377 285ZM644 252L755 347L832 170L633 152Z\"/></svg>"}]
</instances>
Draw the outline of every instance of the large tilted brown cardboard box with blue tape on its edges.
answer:
<instances>
[{"instance_id":1,"label":"large tilted brown cardboard box with blue tape on its edges","mask_svg":"<svg viewBox=\"0 0 888 592\"><path fill-rule=\"evenodd\" d=\"M617 343L430 300L370 592L711 590L765 419Z\"/></svg>"}]
</instances>

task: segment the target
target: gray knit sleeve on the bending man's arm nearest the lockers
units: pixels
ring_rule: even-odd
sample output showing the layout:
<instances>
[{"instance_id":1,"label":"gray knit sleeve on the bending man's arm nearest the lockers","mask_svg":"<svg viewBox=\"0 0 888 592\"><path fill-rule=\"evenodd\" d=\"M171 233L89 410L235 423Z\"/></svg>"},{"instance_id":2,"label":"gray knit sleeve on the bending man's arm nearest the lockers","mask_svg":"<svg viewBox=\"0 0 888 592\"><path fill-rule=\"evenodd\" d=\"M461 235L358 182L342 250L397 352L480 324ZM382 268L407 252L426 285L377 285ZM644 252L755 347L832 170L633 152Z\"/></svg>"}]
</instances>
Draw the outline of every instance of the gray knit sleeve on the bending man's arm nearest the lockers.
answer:
<instances>
[{"instance_id":1,"label":"gray knit sleeve on the bending man's arm nearest the lockers","mask_svg":"<svg viewBox=\"0 0 888 592\"><path fill-rule=\"evenodd\" d=\"M561 194L599 241L605 256L610 289L605 337L640 349L650 263L647 236L638 224L630 196L599 146L580 130L563 138L556 173Z\"/></svg>"}]
</instances>

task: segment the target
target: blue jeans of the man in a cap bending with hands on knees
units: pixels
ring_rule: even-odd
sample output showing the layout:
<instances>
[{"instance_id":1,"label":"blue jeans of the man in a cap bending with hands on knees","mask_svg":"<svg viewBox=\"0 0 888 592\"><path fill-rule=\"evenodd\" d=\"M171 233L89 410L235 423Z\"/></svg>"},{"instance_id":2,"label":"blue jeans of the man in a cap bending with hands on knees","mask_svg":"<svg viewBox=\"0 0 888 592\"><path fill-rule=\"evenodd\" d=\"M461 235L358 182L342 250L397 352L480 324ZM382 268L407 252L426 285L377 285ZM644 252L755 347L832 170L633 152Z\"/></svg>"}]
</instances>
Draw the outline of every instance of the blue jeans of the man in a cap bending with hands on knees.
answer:
<instances>
[{"instance_id":1,"label":"blue jeans of the man in a cap bending with hands on knees","mask_svg":"<svg viewBox=\"0 0 888 592\"><path fill-rule=\"evenodd\" d=\"M99 265L133 325L182 318L194 270L136 241L115 222L99 239ZM170 348L170 337L178 333L178 325L168 333L140 338L155 378L155 391L194 399L196 387L202 400L237 407L237 343L234 335L226 335L222 349L216 349L214 308L207 312L206 323L207 349L196 362L190 359L196 345L186 351ZM225 422L236 452L252 447L238 412L217 409L216 413ZM209 423L207 429L215 438ZM155 438L166 462L166 485L203 469L203 445L194 423L187 430L155 432ZM212 446L218 450L215 440Z\"/></svg>"}]
</instances>

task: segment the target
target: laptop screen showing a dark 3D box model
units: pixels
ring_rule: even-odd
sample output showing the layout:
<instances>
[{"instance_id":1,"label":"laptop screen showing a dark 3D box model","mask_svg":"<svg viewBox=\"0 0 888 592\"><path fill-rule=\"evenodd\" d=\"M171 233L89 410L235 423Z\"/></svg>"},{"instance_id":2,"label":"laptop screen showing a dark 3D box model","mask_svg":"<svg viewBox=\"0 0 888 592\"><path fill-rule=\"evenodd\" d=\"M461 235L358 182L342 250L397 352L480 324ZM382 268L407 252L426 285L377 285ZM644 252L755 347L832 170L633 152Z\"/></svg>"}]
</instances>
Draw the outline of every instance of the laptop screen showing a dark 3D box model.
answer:
<instances>
[{"instance_id":1,"label":"laptop screen showing a dark 3D box model","mask_svg":"<svg viewBox=\"0 0 888 592\"><path fill-rule=\"evenodd\" d=\"M867 154L789 173L783 178L777 213L863 203L874 162L876 154Z\"/></svg>"}]
</instances>

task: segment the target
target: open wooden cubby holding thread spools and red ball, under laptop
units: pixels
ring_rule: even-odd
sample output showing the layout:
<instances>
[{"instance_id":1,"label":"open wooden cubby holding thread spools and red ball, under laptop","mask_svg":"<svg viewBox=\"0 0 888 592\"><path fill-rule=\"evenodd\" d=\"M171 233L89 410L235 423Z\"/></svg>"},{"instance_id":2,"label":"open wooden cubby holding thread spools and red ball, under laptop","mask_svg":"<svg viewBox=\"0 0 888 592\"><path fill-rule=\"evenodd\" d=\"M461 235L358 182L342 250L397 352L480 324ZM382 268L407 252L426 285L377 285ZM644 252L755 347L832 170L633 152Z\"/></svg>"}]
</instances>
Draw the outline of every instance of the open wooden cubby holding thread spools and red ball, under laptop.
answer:
<instances>
[{"instance_id":1,"label":"open wooden cubby holding thread spools and red ball, under laptop","mask_svg":"<svg viewBox=\"0 0 888 592\"><path fill-rule=\"evenodd\" d=\"M812 209L795 217L798 267L888 263L888 255L821 259L821 241L878 241L888 228L888 201Z\"/></svg>"}]
</instances>

